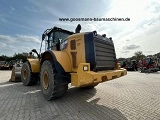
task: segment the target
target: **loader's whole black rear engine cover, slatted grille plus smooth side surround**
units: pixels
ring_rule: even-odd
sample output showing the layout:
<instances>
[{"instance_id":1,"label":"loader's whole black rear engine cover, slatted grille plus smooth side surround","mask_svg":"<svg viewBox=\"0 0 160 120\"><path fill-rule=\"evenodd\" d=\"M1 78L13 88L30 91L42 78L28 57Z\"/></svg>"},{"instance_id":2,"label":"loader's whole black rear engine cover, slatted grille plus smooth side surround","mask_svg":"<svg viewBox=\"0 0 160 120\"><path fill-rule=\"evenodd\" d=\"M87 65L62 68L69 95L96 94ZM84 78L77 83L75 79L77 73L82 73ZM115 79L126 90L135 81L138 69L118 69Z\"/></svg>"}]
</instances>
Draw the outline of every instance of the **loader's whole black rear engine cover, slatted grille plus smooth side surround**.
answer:
<instances>
[{"instance_id":1,"label":"loader's whole black rear engine cover, slatted grille plus smooth side surround","mask_svg":"<svg viewBox=\"0 0 160 120\"><path fill-rule=\"evenodd\" d=\"M93 71L113 70L116 65L116 54L113 41L101 35L88 32L84 36L86 62Z\"/></svg>"}]
</instances>

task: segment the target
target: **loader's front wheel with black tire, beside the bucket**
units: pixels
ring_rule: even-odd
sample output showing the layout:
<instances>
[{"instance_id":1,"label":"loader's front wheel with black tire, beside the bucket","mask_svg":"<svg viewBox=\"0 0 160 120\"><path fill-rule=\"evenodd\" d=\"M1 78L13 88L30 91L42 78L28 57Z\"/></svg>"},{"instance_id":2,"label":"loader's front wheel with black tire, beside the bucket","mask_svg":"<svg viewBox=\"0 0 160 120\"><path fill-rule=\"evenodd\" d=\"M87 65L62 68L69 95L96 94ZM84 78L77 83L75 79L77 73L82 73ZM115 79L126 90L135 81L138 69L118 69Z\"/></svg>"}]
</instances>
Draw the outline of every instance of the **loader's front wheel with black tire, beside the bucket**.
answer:
<instances>
[{"instance_id":1,"label":"loader's front wheel with black tire, beside the bucket","mask_svg":"<svg viewBox=\"0 0 160 120\"><path fill-rule=\"evenodd\" d=\"M31 67L30 67L29 62L25 62L22 66L21 80L22 80L23 85L25 86L35 85L39 80L38 74L31 72Z\"/></svg>"}]
</instances>

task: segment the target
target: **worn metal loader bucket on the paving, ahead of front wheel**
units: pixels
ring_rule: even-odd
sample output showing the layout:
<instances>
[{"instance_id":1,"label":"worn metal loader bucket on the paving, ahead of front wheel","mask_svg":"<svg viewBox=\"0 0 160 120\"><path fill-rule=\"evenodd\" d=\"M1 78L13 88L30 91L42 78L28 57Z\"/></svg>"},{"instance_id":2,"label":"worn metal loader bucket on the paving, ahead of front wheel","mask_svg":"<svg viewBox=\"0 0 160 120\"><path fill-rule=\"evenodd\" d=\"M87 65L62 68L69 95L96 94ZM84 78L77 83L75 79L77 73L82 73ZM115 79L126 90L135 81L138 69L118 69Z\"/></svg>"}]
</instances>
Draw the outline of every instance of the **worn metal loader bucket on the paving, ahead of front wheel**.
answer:
<instances>
[{"instance_id":1,"label":"worn metal loader bucket on the paving, ahead of front wheel","mask_svg":"<svg viewBox=\"0 0 160 120\"><path fill-rule=\"evenodd\" d=\"M10 82L19 82L21 81L21 66L13 66L11 78L9 79Z\"/></svg>"}]
</instances>

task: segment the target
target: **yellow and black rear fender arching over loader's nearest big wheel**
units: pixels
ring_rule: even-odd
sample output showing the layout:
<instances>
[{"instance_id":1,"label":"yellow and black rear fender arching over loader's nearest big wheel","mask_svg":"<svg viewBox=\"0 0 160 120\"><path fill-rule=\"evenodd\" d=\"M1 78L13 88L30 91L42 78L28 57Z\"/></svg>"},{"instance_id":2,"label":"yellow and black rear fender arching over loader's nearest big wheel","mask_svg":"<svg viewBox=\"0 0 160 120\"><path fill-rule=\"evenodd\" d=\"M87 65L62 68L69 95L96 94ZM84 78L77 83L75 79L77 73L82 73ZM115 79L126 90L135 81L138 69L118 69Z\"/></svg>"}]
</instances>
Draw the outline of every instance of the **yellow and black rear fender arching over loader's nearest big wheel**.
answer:
<instances>
[{"instance_id":1,"label":"yellow and black rear fender arching over loader's nearest big wheel","mask_svg":"<svg viewBox=\"0 0 160 120\"><path fill-rule=\"evenodd\" d=\"M71 82L71 61L64 51L45 51L42 55L41 64L45 60L53 60L57 73L55 74L55 84L65 85Z\"/></svg>"}]
</instances>

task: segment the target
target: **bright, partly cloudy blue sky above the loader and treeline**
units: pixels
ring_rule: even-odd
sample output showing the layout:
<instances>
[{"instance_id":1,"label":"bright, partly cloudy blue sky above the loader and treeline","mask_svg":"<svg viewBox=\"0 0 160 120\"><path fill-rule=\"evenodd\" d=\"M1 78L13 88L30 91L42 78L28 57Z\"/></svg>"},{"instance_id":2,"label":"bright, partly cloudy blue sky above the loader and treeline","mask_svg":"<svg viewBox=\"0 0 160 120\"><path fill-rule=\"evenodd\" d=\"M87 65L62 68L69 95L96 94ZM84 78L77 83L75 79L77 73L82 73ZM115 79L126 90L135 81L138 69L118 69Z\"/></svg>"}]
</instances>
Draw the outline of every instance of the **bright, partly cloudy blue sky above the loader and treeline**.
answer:
<instances>
[{"instance_id":1,"label":"bright, partly cloudy blue sky above the loader and treeline","mask_svg":"<svg viewBox=\"0 0 160 120\"><path fill-rule=\"evenodd\" d=\"M59 18L130 18L130 21L62 22ZM112 37L117 58L160 52L160 0L0 0L0 55L39 50L53 26Z\"/></svg>"}]
</instances>

